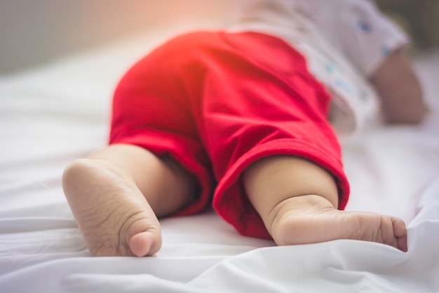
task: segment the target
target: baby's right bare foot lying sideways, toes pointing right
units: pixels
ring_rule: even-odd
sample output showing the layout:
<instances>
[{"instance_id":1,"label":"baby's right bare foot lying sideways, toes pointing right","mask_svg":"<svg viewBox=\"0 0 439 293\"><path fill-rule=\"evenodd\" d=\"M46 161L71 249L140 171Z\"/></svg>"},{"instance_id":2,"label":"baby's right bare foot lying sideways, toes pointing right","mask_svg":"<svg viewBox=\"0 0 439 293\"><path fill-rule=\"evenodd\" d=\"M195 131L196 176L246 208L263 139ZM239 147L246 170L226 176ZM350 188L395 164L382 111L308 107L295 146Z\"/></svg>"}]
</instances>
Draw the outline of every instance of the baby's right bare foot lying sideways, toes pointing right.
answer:
<instances>
[{"instance_id":1,"label":"baby's right bare foot lying sideways, toes pointing right","mask_svg":"<svg viewBox=\"0 0 439 293\"><path fill-rule=\"evenodd\" d=\"M317 195L292 197L273 209L271 235L278 245L338 239L365 240L407 252L403 220L360 211L339 211Z\"/></svg>"}]
</instances>

